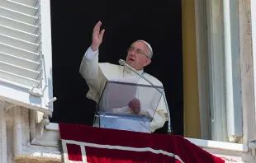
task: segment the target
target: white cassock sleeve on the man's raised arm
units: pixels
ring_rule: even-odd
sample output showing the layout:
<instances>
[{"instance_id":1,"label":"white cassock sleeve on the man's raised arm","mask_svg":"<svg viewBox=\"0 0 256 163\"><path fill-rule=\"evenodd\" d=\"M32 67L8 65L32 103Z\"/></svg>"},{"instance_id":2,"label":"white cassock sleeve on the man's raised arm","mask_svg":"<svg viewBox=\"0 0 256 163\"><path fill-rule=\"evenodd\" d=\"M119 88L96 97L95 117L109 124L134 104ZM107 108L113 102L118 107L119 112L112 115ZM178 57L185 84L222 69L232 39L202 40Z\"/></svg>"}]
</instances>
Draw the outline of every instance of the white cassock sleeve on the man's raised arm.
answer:
<instances>
[{"instance_id":1,"label":"white cassock sleeve on the man's raised arm","mask_svg":"<svg viewBox=\"0 0 256 163\"><path fill-rule=\"evenodd\" d=\"M99 68L98 50L93 52L91 47L88 48L83 56L79 72L89 86L89 91L86 96L88 99L98 102L102 87L107 81Z\"/></svg>"}]
</instances>

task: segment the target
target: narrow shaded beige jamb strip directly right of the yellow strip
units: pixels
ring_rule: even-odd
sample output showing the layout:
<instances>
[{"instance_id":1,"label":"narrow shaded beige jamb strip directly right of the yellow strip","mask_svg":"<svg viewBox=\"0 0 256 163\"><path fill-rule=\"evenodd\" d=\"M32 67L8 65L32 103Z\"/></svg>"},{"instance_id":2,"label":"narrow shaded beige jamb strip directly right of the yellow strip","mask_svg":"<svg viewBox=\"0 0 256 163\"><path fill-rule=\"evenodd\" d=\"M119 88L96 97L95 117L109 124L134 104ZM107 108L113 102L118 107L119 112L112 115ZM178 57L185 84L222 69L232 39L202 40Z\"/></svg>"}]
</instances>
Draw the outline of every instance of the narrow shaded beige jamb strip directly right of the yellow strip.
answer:
<instances>
[{"instance_id":1,"label":"narrow shaded beige jamb strip directly right of the yellow strip","mask_svg":"<svg viewBox=\"0 0 256 163\"><path fill-rule=\"evenodd\" d=\"M197 78L200 110L201 138L211 139L211 110L209 97L209 78L207 77L207 17L206 1L195 0L195 24L197 41Z\"/></svg>"}]
</instances>

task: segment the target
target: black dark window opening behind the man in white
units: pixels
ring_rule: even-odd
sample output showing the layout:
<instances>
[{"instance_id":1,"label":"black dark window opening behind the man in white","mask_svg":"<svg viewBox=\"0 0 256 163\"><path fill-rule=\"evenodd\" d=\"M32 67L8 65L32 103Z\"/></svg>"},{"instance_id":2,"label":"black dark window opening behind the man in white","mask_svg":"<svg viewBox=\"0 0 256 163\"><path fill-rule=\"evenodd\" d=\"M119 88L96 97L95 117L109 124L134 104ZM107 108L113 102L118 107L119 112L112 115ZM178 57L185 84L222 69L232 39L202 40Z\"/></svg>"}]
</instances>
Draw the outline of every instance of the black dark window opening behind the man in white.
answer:
<instances>
[{"instance_id":1,"label":"black dark window opening behind the man in white","mask_svg":"<svg viewBox=\"0 0 256 163\"><path fill-rule=\"evenodd\" d=\"M92 125L95 102L79 74L83 55L92 43L92 29L102 21L106 30L100 62L118 64L135 40L154 50L145 72L163 82L174 134L183 135L183 42L180 0L51 1L54 103L53 123ZM166 126L156 133L165 133Z\"/></svg>"}]
</instances>

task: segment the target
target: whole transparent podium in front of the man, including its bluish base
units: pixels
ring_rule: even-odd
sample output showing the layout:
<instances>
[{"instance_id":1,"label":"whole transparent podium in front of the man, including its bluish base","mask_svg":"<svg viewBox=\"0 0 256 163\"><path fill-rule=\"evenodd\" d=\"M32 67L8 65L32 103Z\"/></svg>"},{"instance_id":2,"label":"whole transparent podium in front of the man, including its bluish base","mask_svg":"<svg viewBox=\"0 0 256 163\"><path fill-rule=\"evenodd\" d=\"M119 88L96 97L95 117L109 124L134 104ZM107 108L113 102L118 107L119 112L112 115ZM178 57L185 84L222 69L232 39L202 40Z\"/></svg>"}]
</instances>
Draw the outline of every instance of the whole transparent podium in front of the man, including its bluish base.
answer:
<instances>
[{"instance_id":1,"label":"whole transparent podium in front of the man, including its bluish base","mask_svg":"<svg viewBox=\"0 0 256 163\"><path fill-rule=\"evenodd\" d=\"M107 81L97 103L94 126L151 133L150 122L164 101L163 94L163 86ZM129 107L131 103L140 107Z\"/></svg>"}]
</instances>

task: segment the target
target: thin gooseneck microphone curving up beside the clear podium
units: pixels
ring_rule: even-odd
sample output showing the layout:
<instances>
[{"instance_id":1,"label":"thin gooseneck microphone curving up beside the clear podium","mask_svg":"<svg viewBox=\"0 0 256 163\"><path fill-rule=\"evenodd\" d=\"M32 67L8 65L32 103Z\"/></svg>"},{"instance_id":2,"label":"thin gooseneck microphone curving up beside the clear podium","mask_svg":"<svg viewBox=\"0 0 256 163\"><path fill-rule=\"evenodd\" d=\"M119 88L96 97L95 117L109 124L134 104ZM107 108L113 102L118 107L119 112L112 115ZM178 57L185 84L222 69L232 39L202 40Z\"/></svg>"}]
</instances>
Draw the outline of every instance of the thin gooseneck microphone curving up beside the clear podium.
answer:
<instances>
[{"instance_id":1,"label":"thin gooseneck microphone curving up beside the clear podium","mask_svg":"<svg viewBox=\"0 0 256 163\"><path fill-rule=\"evenodd\" d=\"M134 68L131 68L129 64L126 63L126 61L124 61L123 59L119 59L118 62L121 66L125 66L127 68L130 68L131 71L135 72L137 75L139 75L140 77L142 77L143 79L145 79L145 81L148 81L149 84L151 86L155 86L151 81L149 81L149 79L147 79L146 77L144 77L142 74L140 74L139 72L137 72ZM170 117L170 111L168 109L168 103L167 100L165 98L164 92L161 92L158 88L155 88L157 91L159 91L163 96L164 96L164 103L166 105L166 109L167 109L167 114L168 114L168 133L171 134L172 133L172 129L171 129L171 117Z\"/></svg>"}]
</instances>

